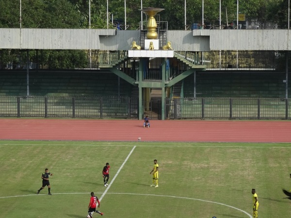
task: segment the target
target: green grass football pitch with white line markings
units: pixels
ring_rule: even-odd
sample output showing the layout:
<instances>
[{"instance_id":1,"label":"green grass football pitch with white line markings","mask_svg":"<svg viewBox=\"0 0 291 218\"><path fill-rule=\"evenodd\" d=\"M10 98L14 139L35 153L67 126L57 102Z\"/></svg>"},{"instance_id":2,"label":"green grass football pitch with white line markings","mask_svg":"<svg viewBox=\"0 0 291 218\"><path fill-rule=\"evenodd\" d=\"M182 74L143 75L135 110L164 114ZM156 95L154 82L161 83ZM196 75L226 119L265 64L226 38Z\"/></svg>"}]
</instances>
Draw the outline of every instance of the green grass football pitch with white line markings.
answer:
<instances>
[{"instance_id":1,"label":"green grass football pitch with white line markings","mask_svg":"<svg viewBox=\"0 0 291 218\"><path fill-rule=\"evenodd\" d=\"M252 218L252 188L259 217L288 218L290 154L290 143L1 140L0 218L85 218L91 191L105 218ZM45 168L51 196L36 194Z\"/></svg>"}]
</instances>

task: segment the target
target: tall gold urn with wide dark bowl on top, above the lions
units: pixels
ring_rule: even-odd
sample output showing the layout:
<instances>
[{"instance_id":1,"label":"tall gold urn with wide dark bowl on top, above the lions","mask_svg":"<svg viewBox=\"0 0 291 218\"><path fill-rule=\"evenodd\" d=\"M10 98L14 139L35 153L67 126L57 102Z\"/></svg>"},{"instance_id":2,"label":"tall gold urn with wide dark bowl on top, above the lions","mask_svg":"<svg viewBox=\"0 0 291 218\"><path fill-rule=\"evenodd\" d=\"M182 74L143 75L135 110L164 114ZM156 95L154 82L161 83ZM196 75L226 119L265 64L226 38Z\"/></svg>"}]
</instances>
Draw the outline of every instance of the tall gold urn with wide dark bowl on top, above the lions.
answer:
<instances>
[{"instance_id":1,"label":"tall gold urn with wide dark bowl on top, above the lions","mask_svg":"<svg viewBox=\"0 0 291 218\"><path fill-rule=\"evenodd\" d=\"M154 16L158 14L159 12L165 10L162 8L143 8L139 9L142 12L145 12L149 18L147 21L147 33L146 33L146 38L147 39L157 39L158 38L158 33L156 32L157 29L157 22Z\"/></svg>"}]
</instances>

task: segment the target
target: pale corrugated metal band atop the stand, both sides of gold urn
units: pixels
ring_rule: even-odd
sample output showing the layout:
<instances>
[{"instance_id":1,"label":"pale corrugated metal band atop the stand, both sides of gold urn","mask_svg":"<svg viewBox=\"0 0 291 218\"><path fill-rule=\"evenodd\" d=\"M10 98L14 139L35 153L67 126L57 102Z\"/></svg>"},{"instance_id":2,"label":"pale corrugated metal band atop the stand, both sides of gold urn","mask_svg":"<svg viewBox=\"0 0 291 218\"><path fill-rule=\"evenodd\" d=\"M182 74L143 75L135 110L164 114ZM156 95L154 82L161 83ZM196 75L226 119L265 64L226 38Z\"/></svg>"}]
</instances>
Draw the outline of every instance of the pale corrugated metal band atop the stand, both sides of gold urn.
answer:
<instances>
[{"instance_id":1,"label":"pale corrugated metal band atop the stand, both sides of gold urn","mask_svg":"<svg viewBox=\"0 0 291 218\"><path fill-rule=\"evenodd\" d=\"M176 51L290 50L291 30L167 31ZM140 31L113 29L0 29L2 49L129 50Z\"/></svg>"}]
</instances>

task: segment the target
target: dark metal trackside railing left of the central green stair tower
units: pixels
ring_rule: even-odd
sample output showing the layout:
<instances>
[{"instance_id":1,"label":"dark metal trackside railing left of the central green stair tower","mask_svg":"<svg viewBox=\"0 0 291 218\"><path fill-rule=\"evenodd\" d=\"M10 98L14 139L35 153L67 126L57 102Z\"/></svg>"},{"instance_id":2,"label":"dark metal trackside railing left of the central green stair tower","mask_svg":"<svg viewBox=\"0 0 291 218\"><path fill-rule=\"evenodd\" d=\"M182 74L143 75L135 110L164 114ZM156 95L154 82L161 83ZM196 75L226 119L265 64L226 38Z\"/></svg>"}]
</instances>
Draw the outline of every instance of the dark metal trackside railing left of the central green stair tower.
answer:
<instances>
[{"instance_id":1,"label":"dark metal trackside railing left of the central green stair tower","mask_svg":"<svg viewBox=\"0 0 291 218\"><path fill-rule=\"evenodd\" d=\"M137 108L129 97L0 96L0 117L137 118Z\"/></svg>"}]
</instances>

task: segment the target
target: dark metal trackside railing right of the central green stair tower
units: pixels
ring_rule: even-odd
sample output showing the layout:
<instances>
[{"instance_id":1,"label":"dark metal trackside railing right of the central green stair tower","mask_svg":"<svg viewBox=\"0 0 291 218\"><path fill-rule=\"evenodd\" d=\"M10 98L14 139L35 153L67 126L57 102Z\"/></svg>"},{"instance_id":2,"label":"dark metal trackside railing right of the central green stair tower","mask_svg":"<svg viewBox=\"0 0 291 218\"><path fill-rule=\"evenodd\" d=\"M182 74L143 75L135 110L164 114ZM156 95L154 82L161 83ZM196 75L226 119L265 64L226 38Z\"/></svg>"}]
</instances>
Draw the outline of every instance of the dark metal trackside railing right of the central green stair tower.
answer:
<instances>
[{"instance_id":1,"label":"dark metal trackside railing right of the central green stair tower","mask_svg":"<svg viewBox=\"0 0 291 218\"><path fill-rule=\"evenodd\" d=\"M290 120L289 99L168 98L167 119Z\"/></svg>"}]
</instances>

